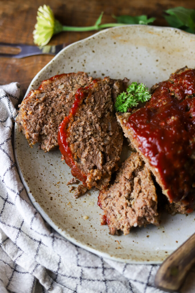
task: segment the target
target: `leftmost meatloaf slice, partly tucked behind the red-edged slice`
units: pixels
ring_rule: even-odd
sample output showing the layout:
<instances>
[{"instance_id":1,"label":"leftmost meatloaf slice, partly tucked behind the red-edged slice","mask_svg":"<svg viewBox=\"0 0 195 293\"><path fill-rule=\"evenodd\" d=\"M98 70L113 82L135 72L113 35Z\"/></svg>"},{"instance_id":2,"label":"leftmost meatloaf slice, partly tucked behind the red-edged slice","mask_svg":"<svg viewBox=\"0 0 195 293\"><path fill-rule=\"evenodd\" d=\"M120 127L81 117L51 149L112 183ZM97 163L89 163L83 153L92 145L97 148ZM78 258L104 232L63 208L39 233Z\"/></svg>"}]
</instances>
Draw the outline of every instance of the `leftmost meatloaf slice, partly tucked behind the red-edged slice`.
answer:
<instances>
[{"instance_id":1,"label":"leftmost meatloaf slice, partly tucked behind the red-edged slice","mask_svg":"<svg viewBox=\"0 0 195 293\"><path fill-rule=\"evenodd\" d=\"M30 146L39 142L45 152L58 146L58 127L69 113L76 90L92 80L84 72L60 74L30 91L19 105L16 118Z\"/></svg>"}]
</instances>

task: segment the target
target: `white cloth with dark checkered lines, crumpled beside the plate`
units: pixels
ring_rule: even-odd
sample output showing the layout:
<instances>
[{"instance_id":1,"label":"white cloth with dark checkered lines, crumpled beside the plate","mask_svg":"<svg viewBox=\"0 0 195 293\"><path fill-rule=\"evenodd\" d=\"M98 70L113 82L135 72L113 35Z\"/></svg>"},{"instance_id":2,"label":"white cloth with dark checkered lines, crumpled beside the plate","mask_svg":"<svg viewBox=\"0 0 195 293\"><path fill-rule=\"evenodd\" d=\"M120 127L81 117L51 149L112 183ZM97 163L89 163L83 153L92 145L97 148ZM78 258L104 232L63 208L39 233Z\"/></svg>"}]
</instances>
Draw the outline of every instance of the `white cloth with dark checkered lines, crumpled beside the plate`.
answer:
<instances>
[{"instance_id":1,"label":"white cloth with dark checkered lines, crumpled beside the plate","mask_svg":"<svg viewBox=\"0 0 195 293\"><path fill-rule=\"evenodd\" d=\"M0 87L0 292L163 292L154 286L158 265L100 258L61 237L33 207L13 155L19 96L18 83ZM182 292L194 292L189 283Z\"/></svg>"}]
</instances>

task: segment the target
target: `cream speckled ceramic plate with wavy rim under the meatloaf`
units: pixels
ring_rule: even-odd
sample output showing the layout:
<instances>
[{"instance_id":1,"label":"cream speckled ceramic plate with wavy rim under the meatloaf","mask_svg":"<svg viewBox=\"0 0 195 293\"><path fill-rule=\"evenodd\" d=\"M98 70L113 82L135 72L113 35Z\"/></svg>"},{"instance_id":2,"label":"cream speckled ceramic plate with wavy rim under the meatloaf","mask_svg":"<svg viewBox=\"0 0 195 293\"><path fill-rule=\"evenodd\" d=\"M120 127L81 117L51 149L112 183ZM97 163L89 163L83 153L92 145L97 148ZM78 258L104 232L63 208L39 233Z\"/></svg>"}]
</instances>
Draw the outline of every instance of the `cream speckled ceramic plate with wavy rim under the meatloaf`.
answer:
<instances>
[{"instance_id":1,"label":"cream speckled ceramic plate with wavy rim under the meatloaf","mask_svg":"<svg viewBox=\"0 0 195 293\"><path fill-rule=\"evenodd\" d=\"M195 67L195 35L174 28L128 25L103 30L65 47L32 80L27 92L42 80L61 73L85 71L152 86L170 73ZM103 257L128 263L161 263L195 230L195 214L163 214L161 225L134 228L127 236L111 236L100 225L98 192L78 199L66 183L70 168L59 150L31 149L15 125L15 158L21 179L44 219L71 242ZM87 218L87 219L86 219Z\"/></svg>"}]
</instances>

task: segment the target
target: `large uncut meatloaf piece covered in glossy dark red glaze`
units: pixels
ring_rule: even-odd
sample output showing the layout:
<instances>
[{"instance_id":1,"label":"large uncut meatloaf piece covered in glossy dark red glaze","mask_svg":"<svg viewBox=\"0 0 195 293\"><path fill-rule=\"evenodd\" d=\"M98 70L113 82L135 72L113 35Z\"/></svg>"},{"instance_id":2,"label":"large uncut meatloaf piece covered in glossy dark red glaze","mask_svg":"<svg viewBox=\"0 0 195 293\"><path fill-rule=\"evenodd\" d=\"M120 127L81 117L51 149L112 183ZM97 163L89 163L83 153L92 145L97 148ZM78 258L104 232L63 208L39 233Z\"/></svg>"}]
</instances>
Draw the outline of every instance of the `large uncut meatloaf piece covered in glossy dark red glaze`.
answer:
<instances>
[{"instance_id":1,"label":"large uncut meatloaf piece covered in glossy dark red glaze","mask_svg":"<svg viewBox=\"0 0 195 293\"><path fill-rule=\"evenodd\" d=\"M156 177L173 209L195 207L195 69L187 67L152 88L134 113L117 114L124 134Z\"/></svg>"}]
</instances>

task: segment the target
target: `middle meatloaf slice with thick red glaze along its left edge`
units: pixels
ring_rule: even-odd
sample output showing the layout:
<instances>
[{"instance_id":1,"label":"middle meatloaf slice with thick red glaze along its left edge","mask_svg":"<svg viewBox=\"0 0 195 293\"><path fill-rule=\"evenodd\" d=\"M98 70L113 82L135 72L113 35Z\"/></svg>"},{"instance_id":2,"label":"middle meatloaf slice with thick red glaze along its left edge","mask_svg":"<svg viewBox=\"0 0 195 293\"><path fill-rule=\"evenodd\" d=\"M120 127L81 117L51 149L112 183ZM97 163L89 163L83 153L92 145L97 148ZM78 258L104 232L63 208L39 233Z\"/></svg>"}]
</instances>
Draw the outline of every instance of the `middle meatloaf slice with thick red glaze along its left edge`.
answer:
<instances>
[{"instance_id":1,"label":"middle meatloaf slice with thick red glaze along its left edge","mask_svg":"<svg viewBox=\"0 0 195 293\"><path fill-rule=\"evenodd\" d=\"M106 77L79 88L69 115L59 127L58 144L65 162L88 189L106 187L118 168L123 135L112 98L122 85L127 86L127 80Z\"/></svg>"}]
</instances>

